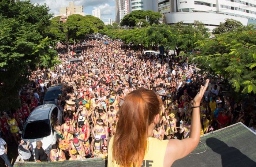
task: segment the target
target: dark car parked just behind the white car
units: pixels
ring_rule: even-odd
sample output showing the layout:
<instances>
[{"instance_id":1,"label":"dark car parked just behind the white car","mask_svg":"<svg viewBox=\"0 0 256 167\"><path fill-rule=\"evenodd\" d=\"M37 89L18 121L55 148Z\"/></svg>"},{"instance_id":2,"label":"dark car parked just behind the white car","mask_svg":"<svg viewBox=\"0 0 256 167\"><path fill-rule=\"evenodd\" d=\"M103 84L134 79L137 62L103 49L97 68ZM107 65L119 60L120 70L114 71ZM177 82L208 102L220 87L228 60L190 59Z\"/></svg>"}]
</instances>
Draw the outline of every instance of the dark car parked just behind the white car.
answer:
<instances>
[{"instance_id":1,"label":"dark car parked just behind the white car","mask_svg":"<svg viewBox=\"0 0 256 167\"><path fill-rule=\"evenodd\" d=\"M44 95L43 104L55 104L57 105L59 95L63 95L62 84L52 85L49 87Z\"/></svg>"}]
</instances>

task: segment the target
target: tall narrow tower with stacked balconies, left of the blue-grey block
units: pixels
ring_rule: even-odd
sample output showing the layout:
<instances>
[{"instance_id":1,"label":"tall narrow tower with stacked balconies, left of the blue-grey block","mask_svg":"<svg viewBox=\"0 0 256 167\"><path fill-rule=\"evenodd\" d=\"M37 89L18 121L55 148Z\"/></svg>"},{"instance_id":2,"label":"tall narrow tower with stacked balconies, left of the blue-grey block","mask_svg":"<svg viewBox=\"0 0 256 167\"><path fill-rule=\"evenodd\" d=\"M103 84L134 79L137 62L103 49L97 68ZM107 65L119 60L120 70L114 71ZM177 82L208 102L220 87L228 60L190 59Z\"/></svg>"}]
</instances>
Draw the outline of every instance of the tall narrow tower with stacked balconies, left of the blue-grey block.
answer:
<instances>
[{"instance_id":1,"label":"tall narrow tower with stacked balconies, left of the blue-grey block","mask_svg":"<svg viewBox=\"0 0 256 167\"><path fill-rule=\"evenodd\" d=\"M119 23L125 15L129 14L129 0L116 0L116 19L115 22Z\"/></svg>"}]
</instances>

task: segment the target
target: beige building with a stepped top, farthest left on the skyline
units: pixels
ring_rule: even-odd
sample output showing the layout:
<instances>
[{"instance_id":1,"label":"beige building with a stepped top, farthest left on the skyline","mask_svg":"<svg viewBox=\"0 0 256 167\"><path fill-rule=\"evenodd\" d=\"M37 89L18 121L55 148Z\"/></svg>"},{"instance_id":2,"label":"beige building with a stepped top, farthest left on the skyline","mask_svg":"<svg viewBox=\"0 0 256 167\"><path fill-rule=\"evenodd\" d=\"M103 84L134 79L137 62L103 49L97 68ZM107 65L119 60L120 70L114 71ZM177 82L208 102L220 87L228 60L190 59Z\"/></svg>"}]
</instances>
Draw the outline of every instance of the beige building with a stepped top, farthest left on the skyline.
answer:
<instances>
[{"instance_id":1,"label":"beige building with a stepped top, farthest left on the skyline","mask_svg":"<svg viewBox=\"0 0 256 167\"><path fill-rule=\"evenodd\" d=\"M79 15L83 15L83 6L75 6L75 2L69 2L68 3L68 7L60 7L60 15L63 16L70 16L70 15L74 15L74 14L79 14Z\"/></svg>"}]
</instances>

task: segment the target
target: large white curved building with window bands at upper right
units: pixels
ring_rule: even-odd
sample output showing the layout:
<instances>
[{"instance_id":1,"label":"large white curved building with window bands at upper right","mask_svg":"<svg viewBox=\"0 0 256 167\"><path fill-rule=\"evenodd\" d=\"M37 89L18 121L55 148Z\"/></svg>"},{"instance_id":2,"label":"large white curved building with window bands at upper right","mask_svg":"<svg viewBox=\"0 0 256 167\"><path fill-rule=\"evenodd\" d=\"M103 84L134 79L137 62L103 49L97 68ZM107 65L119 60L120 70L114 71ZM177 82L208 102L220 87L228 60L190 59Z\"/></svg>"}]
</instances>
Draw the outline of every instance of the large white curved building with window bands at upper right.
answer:
<instances>
[{"instance_id":1,"label":"large white curved building with window bands at upper right","mask_svg":"<svg viewBox=\"0 0 256 167\"><path fill-rule=\"evenodd\" d=\"M198 20L210 30L225 19L235 19L243 26L256 22L255 0L158 0L158 9L167 24Z\"/></svg>"}]
</instances>

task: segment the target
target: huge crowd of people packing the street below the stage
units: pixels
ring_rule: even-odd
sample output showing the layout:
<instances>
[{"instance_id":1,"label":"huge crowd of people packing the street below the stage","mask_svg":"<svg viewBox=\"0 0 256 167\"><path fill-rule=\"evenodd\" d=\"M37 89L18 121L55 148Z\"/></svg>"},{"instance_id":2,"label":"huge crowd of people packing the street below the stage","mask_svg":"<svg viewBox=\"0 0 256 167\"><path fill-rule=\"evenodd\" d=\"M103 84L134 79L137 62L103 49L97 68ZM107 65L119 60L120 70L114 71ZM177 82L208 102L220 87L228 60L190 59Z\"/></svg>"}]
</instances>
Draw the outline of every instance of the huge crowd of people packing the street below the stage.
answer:
<instances>
[{"instance_id":1,"label":"huge crowd of people packing the street below the stage","mask_svg":"<svg viewBox=\"0 0 256 167\"><path fill-rule=\"evenodd\" d=\"M107 140L115 135L119 109L126 95L141 87L154 91L163 102L152 137L188 138L193 98L207 74L197 73L188 58L144 55L143 49L131 49L122 41L88 40L68 53L66 46L59 44L56 50L62 63L54 70L38 68L32 72L31 84L21 88L22 106L1 112L2 138L15 141L19 151L27 153L23 160L33 160L29 157L29 143L24 143L19 132L30 112L42 104L48 87L58 84L63 84L63 94L57 101L63 124L56 118L52 120L57 144L46 155L38 141L36 161L106 159ZM73 58L80 61L71 61ZM221 77L211 79L214 86L207 88L201 101L201 134L237 122L256 131L254 106L224 94L222 87L215 85L220 80Z\"/></svg>"}]
</instances>

